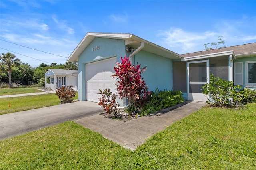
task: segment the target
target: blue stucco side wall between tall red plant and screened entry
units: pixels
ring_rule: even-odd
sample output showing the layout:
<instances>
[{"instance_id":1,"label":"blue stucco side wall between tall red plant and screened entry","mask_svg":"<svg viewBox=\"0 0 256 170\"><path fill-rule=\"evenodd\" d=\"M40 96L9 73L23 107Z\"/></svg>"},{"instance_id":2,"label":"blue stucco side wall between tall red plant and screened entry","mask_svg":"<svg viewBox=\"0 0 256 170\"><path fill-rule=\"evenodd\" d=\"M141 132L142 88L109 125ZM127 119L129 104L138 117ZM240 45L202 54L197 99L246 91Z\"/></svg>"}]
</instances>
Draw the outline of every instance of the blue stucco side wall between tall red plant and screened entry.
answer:
<instances>
[{"instance_id":1,"label":"blue stucco side wall between tall red plant and screened entry","mask_svg":"<svg viewBox=\"0 0 256 170\"><path fill-rule=\"evenodd\" d=\"M150 91L172 89L172 60L161 57L146 51L140 51L132 57L132 64L147 66L147 70L142 73L145 83Z\"/></svg>"}]
</instances>

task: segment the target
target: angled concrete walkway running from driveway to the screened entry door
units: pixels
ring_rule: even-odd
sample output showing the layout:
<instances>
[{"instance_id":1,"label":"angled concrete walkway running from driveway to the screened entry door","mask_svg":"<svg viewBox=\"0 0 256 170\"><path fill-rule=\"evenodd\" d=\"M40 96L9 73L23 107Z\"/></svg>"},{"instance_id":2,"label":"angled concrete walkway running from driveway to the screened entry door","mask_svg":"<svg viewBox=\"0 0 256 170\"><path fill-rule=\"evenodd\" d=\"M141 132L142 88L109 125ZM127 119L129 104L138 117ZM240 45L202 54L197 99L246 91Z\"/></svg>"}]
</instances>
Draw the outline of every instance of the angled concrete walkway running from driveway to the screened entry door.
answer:
<instances>
[{"instance_id":1,"label":"angled concrete walkway running from driveway to the screened entry door","mask_svg":"<svg viewBox=\"0 0 256 170\"><path fill-rule=\"evenodd\" d=\"M127 122L108 119L102 115L78 119L75 122L83 125L85 128L101 133L105 138L120 144L124 148L135 150L150 136L198 111L205 104L196 101L186 101L174 107L164 109L157 114L139 117Z\"/></svg>"}]
</instances>

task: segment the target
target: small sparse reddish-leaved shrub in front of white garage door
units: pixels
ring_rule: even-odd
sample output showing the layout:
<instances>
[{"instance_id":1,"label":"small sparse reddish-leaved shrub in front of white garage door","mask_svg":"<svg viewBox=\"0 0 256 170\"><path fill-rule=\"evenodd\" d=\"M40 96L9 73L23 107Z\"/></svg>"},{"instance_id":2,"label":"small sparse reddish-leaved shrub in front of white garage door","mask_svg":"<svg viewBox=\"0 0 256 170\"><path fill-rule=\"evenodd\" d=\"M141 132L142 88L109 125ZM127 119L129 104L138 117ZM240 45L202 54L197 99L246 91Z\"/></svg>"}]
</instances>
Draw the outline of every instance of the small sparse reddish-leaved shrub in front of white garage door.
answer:
<instances>
[{"instance_id":1,"label":"small sparse reddish-leaved shrub in front of white garage door","mask_svg":"<svg viewBox=\"0 0 256 170\"><path fill-rule=\"evenodd\" d=\"M102 106L104 111L110 114L114 114L115 117L119 116L119 103L116 102L116 94L110 91L110 89L105 89L104 91L101 89L98 93L102 95L101 98L99 98L100 102L98 105Z\"/></svg>"}]
</instances>

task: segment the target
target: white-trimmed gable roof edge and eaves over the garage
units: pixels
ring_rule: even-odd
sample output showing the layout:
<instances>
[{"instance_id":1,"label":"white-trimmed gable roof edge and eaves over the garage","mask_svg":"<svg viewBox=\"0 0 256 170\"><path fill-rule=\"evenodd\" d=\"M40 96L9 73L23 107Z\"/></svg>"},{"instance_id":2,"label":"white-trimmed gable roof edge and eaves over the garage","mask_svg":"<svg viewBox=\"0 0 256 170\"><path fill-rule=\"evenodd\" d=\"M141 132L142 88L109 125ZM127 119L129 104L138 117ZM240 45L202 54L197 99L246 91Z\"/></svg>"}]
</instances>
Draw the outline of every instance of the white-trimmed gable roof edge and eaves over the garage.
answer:
<instances>
[{"instance_id":1,"label":"white-trimmed gable roof edge and eaves over the garage","mask_svg":"<svg viewBox=\"0 0 256 170\"><path fill-rule=\"evenodd\" d=\"M74 51L71 53L71 55L68 57L67 61L78 62L78 57L81 55L84 49L86 49L86 47L88 47L88 45L94 40L95 37L125 40L125 45L129 45L130 47L134 48L140 47L140 43L144 42L145 45L142 49L143 51L148 51L150 53L170 59L183 58L183 56L181 56L178 53L174 53L173 51L160 47L159 45L144 40L138 36L135 36L134 34L88 32L81 40L81 42L77 45L77 47L74 49Z\"/></svg>"}]
</instances>

